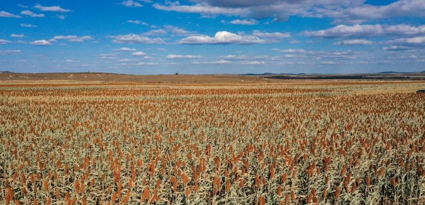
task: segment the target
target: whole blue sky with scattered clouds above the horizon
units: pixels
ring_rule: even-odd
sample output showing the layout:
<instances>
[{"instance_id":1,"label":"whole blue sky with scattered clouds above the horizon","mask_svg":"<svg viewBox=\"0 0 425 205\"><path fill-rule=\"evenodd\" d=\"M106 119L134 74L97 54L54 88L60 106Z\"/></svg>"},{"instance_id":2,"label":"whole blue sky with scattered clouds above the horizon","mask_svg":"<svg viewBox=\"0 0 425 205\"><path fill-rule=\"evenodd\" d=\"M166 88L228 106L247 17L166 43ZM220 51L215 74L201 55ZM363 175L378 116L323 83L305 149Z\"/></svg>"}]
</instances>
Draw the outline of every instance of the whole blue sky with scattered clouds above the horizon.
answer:
<instances>
[{"instance_id":1,"label":"whole blue sky with scattered clouds above the horizon","mask_svg":"<svg viewBox=\"0 0 425 205\"><path fill-rule=\"evenodd\" d=\"M3 1L0 71L425 70L425 0Z\"/></svg>"}]
</instances>

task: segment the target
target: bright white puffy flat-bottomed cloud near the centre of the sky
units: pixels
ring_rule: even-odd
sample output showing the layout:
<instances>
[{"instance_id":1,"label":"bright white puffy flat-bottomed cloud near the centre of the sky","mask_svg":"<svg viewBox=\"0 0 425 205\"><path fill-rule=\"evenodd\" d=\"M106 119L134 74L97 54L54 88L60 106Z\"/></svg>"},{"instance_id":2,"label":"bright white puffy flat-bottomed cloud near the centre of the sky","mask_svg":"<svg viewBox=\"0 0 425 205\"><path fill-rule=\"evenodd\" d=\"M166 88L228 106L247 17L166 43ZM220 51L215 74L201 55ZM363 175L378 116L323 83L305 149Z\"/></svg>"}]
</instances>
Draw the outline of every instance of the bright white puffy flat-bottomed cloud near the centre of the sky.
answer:
<instances>
[{"instance_id":1,"label":"bright white puffy flat-bottomed cloud near the centre of the sky","mask_svg":"<svg viewBox=\"0 0 425 205\"><path fill-rule=\"evenodd\" d=\"M266 42L266 40L257 36L238 35L227 31L217 32L214 37L193 35L179 40L181 44L254 44Z\"/></svg>"}]
</instances>

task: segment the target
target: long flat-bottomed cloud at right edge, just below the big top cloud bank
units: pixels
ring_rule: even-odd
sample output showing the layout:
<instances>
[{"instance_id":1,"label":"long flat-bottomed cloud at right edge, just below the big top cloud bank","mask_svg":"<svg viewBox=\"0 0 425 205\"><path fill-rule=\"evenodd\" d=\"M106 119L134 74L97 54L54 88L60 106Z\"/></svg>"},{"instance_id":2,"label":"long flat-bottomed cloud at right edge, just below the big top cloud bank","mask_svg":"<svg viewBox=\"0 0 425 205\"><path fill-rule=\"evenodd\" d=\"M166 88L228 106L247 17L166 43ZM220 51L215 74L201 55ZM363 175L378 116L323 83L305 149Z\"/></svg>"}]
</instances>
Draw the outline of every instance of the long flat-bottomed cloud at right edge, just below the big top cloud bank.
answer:
<instances>
[{"instance_id":1,"label":"long flat-bottomed cloud at right edge, just below the big top cloud bank","mask_svg":"<svg viewBox=\"0 0 425 205\"><path fill-rule=\"evenodd\" d=\"M304 35L318 38L356 38L425 34L425 25L338 25L330 29L306 31Z\"/></svg>"}]
</instances>

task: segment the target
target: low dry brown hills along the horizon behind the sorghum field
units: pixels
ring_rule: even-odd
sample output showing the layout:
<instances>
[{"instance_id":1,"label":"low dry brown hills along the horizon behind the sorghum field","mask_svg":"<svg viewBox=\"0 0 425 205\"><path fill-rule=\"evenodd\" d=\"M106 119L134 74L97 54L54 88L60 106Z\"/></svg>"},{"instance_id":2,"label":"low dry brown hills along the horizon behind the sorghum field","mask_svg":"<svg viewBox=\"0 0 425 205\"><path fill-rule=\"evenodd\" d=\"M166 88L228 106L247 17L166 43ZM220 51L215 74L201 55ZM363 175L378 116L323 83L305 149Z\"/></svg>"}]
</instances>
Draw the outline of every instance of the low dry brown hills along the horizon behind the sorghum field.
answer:
<instances>
[{"instance_id":1,"label":"low dry brown hills along the horizon behind the sorghum field","mask_svg":"<svg viewBox=\"0 0 425 205\"><path fill-rule=\"evenodd\" d=\"M368 74L369 78L382 77L388 79L379 79L383 82L401 81L401 79L393 79L394 77L412 77L416 80L402 79L403 83L423 82L421 73L413 74ZM311 77L328 77L328 76L344 76L344 75L290 75L289 77L311 78ZM353 75L346 75L353 76ZM354 75L356 76L356 75ZM321 82L362 82L363 79L326 79ZM377 83L379 80L368 80L364 82ZM311 83L317 79L274 79L273 76L248 76L248 75L126 75L111 73L10 73L0 72L0 84L117 84L117 83L200 83L200 84L250 84L250 83ZM318 82L318 81L317 81Z\"/></svg>"}]
</instances>

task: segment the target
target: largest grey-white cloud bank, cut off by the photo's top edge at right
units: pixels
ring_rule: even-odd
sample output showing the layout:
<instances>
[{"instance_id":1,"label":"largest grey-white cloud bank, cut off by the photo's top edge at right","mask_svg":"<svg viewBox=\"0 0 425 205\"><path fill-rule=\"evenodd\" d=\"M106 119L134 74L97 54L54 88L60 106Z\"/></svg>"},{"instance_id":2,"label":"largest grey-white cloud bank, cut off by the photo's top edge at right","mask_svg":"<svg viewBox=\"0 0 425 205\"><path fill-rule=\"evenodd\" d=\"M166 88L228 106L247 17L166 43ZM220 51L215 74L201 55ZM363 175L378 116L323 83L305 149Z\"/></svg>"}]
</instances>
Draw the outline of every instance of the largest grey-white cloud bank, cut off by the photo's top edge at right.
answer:
<instances>
[{"instance_id":1,"label":"largest grey-white cloud bank, cut off by the photo's top edge at right","mask_svg":"<svg viewBox=\"0 0 425 205\"><path fill-rule=\"evenodd\" d=\"M194 4L180 5L167 1L165 5L154 4L156 9L204 16L240 16L256 19L272 17L275 21L287 20L289 16L331 17L335 22L362 22L396 16L424 16L423 0L399 0L389 5L369 5L365 0L192 0Z\"/></svg>"}]
</instances>

